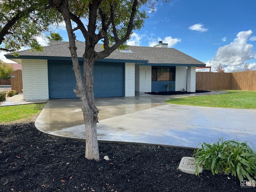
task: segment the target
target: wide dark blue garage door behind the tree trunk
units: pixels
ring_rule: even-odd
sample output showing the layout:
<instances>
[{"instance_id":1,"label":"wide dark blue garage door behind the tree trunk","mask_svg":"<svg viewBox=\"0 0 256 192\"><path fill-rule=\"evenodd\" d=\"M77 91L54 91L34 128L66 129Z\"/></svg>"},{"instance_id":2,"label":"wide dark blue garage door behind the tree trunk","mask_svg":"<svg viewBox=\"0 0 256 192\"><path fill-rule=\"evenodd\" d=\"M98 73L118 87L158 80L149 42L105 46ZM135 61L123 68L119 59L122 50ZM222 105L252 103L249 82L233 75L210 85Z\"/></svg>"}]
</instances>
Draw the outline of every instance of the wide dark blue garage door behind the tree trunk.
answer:
<instances>
[{"instance_id":1,"label":"wide dark blue garage door behind the tree trunk","mask_svg":"<svg viewBox=\"0 0 256 192\"><path fill-rule=\"evenodd\" d=\"M81 62L82 68L82 62ZM76 78L70 61L48 60L49 98L76 98ZM124 64L94 65L94 97L124 96Z\"/></svg>"}]
</instances>

